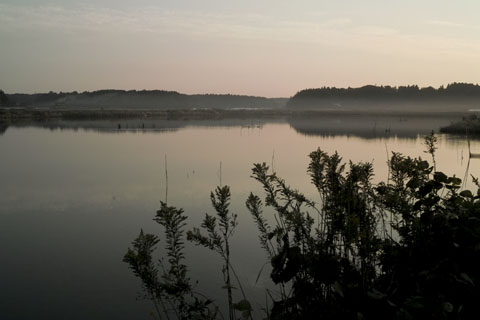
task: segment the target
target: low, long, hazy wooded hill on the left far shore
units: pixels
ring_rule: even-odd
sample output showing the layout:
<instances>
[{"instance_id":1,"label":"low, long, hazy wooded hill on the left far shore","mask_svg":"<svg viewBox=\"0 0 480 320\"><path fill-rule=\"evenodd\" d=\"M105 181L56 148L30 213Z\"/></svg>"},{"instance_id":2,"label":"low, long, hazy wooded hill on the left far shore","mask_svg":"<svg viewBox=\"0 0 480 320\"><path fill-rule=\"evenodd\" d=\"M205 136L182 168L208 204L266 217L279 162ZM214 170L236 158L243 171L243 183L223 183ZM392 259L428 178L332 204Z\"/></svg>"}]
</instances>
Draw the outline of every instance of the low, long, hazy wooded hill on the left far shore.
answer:
<instances>
[{"instance_id":1,"label":"low, long, hazy wooded hill on the left far shore","mask_svg":"<svg viewBox=\"0 0 480 320\"><path fill-rule=\"evenodd\" d=\"M49 92L7 94L10 107L103 108L103 109L250 109L285 107L287 98L264 98L231 94L187 95L176 91L99 90L93 92Z\"/></svg>"}]
</instances>

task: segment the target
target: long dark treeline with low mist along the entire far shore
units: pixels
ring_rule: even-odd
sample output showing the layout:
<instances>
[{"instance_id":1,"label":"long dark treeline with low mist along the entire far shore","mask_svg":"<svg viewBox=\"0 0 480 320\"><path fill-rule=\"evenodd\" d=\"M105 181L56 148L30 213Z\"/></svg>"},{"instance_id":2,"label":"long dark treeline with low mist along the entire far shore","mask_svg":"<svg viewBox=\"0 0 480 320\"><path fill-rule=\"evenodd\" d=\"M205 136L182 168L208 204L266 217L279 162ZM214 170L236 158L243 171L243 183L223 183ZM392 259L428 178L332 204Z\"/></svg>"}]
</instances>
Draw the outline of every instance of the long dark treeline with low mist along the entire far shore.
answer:
<instances>
[{"instance_id":1,"label":"long dark treeline with low mist along the entire far shore","mask_svg":"<svg viewBox=\"0 0 480 320\"><path fill-rule=\"evenodd\" d=\"M360 88L323 87L299 91L290 99L232 94L193 94L163 90L98 90L93 92L49 92L5 94L0 107L49 109L326 109L358 111L450 111L480 108L480 86L452 83L420 88L373 86Z\"/></svg>"}]
</instances>

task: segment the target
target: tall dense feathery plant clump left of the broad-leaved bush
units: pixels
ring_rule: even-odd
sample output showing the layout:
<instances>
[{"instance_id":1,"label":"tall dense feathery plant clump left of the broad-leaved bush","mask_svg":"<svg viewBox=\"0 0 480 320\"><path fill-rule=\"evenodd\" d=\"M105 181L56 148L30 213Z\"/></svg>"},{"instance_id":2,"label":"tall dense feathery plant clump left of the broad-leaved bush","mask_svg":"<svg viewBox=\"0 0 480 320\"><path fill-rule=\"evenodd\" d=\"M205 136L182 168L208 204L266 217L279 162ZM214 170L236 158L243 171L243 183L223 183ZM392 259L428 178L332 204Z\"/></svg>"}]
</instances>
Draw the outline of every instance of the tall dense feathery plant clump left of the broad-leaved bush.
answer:
<instances>
[{"instance_id":1,"label":"tall dense feathery plant clump left of the broad-leaved bush","mask_svg":"<svg viewBox=\"0 0 480 320\"><path fill-rule=\"evenodd\" d=\"M271 259L271 278L281 285L272 319L348 316L361 303L353 298L366 296L375 277L379 241L371 164L350 163L344 173L336 153L317 150L310 158L308 171L320 194L320 207L269 173L266 164L252 169L277 222L275 227L267 225L261 200L250 194L247 208Z\"/></svg>"}]
</instances>

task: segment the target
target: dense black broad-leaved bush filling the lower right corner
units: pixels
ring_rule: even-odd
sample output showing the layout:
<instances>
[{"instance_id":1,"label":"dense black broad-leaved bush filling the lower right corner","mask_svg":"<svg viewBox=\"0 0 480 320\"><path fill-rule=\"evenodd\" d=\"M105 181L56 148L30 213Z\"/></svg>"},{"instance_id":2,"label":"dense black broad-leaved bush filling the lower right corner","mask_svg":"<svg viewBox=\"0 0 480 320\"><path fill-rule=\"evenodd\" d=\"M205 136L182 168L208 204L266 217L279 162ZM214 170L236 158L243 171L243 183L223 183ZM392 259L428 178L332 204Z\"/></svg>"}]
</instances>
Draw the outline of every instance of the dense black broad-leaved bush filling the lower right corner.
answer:
<instances>
[{"instance_id":1,"label":"dense black broad-leaved bush filling the lower right corner","mask_svg":"<svg viewBox=\"0 0 480 320\"><path fill-rule=\"evenodd\" d=\"M421 159L394 154L390 168L396 181L380 183L377 194L396 217L398 237L383 242L377 281L383 305L377 310L389 318L477 318L479 193L459 192L459 178Z\"/></svg>"}]
</instances>

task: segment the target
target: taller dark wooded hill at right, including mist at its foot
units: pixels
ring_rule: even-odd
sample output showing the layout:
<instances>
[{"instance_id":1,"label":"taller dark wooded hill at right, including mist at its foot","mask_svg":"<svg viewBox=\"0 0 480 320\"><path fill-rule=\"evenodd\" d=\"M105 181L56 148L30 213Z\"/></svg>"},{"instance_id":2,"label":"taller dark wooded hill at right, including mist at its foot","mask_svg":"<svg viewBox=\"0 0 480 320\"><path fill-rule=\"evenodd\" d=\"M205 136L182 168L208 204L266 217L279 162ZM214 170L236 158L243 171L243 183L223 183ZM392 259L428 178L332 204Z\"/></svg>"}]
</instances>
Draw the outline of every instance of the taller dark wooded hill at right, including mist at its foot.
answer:
<instances>
[{"instance_id":1,"label":"taller dark wooded hill at right, including mist at its foot","mask_svg":"<svg viewBox=\"0 0 480 320\"><path fill-rule=\"evenodd\" d=\"M480 86L452 83L447 87L373 86L306 89L287 103L295 109L466 111L480 108Z\"/></svg>"}]
</instances>

